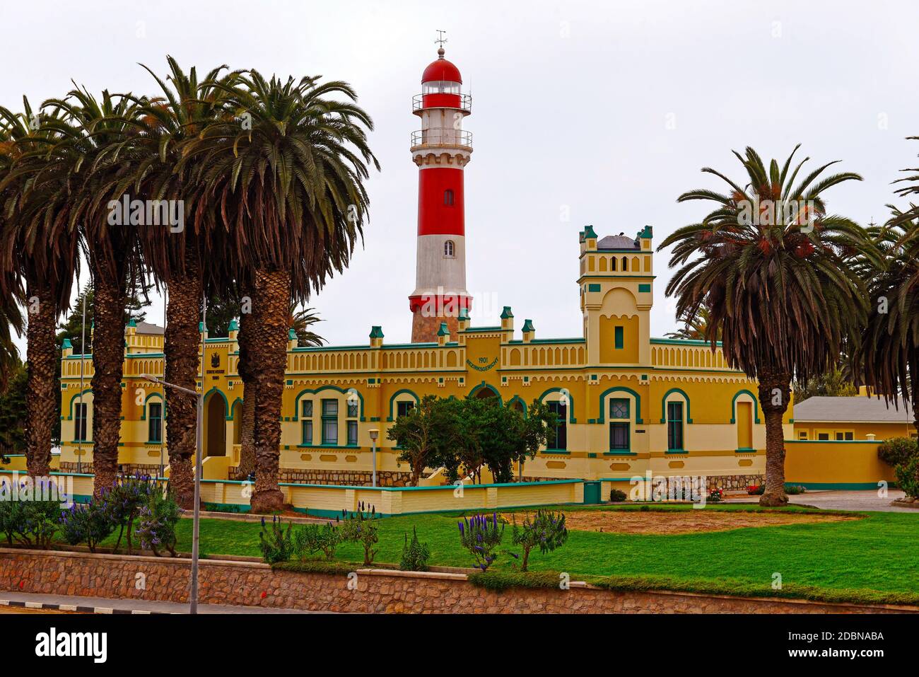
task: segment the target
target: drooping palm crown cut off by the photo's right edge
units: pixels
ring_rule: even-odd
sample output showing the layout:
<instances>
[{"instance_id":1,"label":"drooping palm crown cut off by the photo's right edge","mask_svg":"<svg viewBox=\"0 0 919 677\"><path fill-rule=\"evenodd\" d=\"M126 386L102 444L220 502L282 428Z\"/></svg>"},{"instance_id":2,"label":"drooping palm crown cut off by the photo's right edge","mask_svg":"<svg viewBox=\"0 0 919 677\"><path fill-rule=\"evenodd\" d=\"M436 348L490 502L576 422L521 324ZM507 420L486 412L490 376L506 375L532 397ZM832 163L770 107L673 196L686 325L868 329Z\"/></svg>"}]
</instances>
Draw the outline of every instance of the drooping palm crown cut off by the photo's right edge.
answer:
<instances>
[{"instance_id":1,"label":"drooping palm crown cut off by the photo's right edge","mask_svg":"<svg viewBox=\"0 0 919 677\"><path fill-rule=\"evenodd\" d=\"M865 261L871 310L853 356L857 384L867 384L895 407L913 406L919 430L919 220L892 205L891 219L869 229L881 254Z\"/></svg>"}]
</instances>

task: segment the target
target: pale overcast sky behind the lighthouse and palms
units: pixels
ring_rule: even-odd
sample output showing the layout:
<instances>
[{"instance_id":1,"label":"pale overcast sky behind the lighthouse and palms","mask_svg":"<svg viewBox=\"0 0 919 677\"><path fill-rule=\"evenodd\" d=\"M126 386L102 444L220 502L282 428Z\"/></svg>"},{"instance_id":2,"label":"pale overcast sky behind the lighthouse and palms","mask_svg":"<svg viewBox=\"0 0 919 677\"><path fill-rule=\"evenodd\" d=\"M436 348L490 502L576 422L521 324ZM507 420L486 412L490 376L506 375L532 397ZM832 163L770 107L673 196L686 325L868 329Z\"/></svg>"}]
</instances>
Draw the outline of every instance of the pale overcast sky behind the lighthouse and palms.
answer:
<instances>
[{"instance_id":1,"label":"pale overcast sky behind the lighthouse and palms","mask_svg":"<svg viewBox=\"0 0 919 677\"><path fill-rule=\"evenodd\" d=\"M529 317L539 337L572 337L578 232L651 224L656 246L705 212L676 204L681 192L720 189L702 166L745 180L732 149L753 145L781 162L800 142L813 166L842 160L865 180L831 189L829 211L882 220L891 181L919 152L904 140L919 134L917 19L910 0L5 1L0 102L59 97L72 78L96 92L153 93L137 63L165 75L166 54L199 71L227 63L346 80L375 121L382 171L369 181L364 247L312 305L333 344L366 343L370 325L402 342L414 289L412 96L444 29L473 97L468 288L496 306L473 308L472 324L510 305L518 332ZM653 336L675 327L666 258L656 257ZM162 302L149 314L162 323Z\"/></svg>"}]
</instances>

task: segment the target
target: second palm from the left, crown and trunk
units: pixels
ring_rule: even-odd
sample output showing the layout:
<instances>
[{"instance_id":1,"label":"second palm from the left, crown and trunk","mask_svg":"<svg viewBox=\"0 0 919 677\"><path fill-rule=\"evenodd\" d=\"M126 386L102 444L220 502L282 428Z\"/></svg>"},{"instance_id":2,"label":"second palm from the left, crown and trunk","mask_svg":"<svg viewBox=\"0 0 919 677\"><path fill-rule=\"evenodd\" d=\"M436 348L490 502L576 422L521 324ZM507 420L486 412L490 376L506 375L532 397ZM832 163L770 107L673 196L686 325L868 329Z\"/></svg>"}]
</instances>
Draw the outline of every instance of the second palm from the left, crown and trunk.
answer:
<instances>
[{"instance_id":1,"label":"second palm from the left, crown and trunk","mask_svg":"<svg viewBox=\"0 0 919 677\"><path fill-rule=\"evenodd\" d=\"M93 494L98 497L118 475L124 307L128 291L143 278L138 229L126 220L110 220L109 205L121 201L135 180L138 160L131 151L142 122L130 95L104 91L96 99L80 87L42 108L64 117L54 127L62 140L51 148L49 161L55 173L67 177L69 235L75 239L82 231L92 272Z\"/></svg>"}]
</instances>

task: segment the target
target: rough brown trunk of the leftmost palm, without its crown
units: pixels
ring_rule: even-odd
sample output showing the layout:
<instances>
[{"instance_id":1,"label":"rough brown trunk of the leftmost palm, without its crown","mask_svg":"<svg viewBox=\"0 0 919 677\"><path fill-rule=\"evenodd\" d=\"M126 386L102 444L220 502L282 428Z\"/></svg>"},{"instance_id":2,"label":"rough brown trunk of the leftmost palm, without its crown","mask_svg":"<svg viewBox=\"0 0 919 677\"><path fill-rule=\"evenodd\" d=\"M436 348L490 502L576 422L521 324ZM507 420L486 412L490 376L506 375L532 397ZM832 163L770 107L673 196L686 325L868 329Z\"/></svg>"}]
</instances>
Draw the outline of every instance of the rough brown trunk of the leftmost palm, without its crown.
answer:
<instances>
[{"instance_id":1,"label":"rough brown trunk of the leftmost palm, without its crown","mask_svg":"<svg viewBox=\"0 0 919 677\"><path fill-rule=\"evenodd\" d=\"M51 473L51 430L60 391L55 383L55 304L51 288L28 284L28 397L26 398L26 468L30 476Z\"/></svg>"}]
</instances>

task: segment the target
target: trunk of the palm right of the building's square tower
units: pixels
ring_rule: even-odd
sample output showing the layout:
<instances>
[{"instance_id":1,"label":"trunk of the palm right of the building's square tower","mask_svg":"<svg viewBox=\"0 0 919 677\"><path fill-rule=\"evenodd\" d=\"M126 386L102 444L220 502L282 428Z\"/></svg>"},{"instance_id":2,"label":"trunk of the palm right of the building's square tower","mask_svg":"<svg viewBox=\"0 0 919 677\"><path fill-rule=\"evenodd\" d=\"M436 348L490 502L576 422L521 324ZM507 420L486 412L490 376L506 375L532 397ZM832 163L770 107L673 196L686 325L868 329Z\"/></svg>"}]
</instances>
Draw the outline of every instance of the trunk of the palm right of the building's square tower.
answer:
<instances>
[{"instance_id":1,"label":"trunk of the palm right of the building's square tower","mask_svg":"<svg viewBox=\"0 0 919 677\"><path fill-rule=\"evenodd\" d=\"M769 369L759 373L759 405L766 418L766 489L759 499L762 506L783 506L785 495L785 431L782 417L791 399L791 374Z\"/></svg>"}]
</instances>

